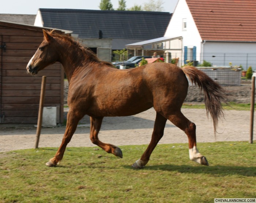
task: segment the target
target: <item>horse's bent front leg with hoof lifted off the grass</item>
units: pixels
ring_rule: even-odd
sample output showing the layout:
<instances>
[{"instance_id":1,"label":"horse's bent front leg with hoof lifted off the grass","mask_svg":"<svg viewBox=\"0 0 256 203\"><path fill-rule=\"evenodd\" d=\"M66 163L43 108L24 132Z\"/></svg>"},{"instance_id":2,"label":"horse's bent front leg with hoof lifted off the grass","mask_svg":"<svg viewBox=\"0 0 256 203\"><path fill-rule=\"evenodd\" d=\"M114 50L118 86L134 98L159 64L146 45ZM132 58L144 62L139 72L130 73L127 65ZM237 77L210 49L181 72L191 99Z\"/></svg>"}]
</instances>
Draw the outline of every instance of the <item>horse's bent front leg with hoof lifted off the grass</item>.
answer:
<instances>
[{"instance_id":1,"label":"horse's bent front leg with hoof lifted off the grass","mask_svg":"<svg viewBox=\"0 0 256 203\"><path fill-rule=\"evenodd\" d=\"M91 142L95 145L98 145L100 148L104 149L108 153L112 153L115 156L123 158L123 153L120 148L112 144L106 144L99 141L98 134L101 129L103 117L90 117L91 129L90 129L90 139Z\"/></svg>"}]
</instances>

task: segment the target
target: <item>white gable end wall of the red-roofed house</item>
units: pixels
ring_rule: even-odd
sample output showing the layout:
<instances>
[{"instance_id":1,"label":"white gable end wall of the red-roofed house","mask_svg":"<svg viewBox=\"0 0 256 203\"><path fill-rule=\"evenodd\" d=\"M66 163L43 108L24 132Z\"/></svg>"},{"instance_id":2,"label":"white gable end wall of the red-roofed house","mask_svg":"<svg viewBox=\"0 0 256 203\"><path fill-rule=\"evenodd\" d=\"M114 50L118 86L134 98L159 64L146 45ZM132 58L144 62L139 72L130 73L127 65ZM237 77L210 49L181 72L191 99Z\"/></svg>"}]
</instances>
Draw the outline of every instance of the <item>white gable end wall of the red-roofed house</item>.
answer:
<instances>
[{"instance_id":1,"label":"white gable end wall of the red-roofed house","mask_svg":"<svg viewBox=\"0 0 256 203\"><path fill-rule=\"evenodd\" d=\"M186 23L186 28L184 28L184 23ZM192 60L192 51L193 47L196 47L196 52L201 52L202 47L202 38L197 30L195 21L193 20L193 17L191 15L191 12L188 8L187 2L185 0L179 0L177 3L177 6L174 10L172 19L170 20L169 26L166 29L165 32L166 37L178 37L182 36L182 62L183 62L183 56L184 56L184 47L186 46L188 48L188 60ZM176 47L175 44L173 44L173 47L166 48L180 48ZM173 56L178 55L177 51L169 51L172 53ZM200 55L197 54L196 60L200 60ZM182 63L183 64L183 63Z\"/></svg>"}]
</instances>

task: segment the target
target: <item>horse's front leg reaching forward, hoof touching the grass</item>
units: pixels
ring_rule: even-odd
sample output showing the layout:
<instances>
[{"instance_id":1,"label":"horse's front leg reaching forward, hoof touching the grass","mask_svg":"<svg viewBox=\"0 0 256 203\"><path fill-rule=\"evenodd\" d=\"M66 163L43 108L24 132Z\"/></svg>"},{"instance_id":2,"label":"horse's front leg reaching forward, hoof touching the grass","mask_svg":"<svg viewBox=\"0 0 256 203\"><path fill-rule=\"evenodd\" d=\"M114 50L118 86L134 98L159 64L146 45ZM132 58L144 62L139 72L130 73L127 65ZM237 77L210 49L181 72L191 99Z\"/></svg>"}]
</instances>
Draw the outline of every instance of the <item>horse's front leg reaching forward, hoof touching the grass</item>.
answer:
<instances>
[{"instance_id":1,"label":"horse's front leg reaching forward, hoof touching the grass","mask_svg":"<svg viewBox=\"0 0 256 203\"><path fill-rule=\"evenodd\" d=\"M78 122L80 120L80 116L75 114L72 110L69 110L67 115L67 126L65 130L65 134L62 139L62 143L56 152L55 156L50 159L45 165L49 167L54 167L61 161L63 158L65 149L67 147L67 144L70 142L73 134L75 133L76 127L78 125Z\"/></svg>"}]
</instances>

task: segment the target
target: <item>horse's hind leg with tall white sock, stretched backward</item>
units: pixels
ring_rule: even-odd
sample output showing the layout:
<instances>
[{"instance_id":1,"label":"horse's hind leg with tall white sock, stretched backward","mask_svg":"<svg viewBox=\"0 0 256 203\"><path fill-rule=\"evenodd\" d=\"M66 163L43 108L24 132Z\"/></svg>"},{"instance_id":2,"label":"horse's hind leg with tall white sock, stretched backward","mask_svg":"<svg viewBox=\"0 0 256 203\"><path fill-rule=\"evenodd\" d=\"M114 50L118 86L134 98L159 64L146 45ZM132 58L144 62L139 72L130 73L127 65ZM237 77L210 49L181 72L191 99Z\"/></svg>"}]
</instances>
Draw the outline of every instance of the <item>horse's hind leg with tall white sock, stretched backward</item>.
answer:
<instances>
[{"instance_id":1,"label":"horse's hind leg with tall white sock, stretched backward","mask_svg":"<svg viewBox=\"0 0 256 203\"><path fill-rule=\"evenodd\" d=\"M189 121L180 111L170 115L168 119L187 134L189 158L196 163L209 165L206 157L202 156L196 148L196 125Z\"/></svg>"}]
</instances>

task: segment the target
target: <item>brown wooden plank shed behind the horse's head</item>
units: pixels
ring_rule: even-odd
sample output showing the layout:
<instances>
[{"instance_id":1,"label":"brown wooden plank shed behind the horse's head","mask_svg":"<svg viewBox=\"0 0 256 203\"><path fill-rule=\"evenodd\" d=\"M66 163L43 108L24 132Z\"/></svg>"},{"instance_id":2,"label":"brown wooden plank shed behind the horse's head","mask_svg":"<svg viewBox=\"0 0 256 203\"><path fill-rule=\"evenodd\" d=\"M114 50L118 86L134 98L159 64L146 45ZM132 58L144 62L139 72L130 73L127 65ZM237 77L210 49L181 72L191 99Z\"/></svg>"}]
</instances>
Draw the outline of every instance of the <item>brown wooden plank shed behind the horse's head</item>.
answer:
<instances>
[{"instance_id":1,"label":"brown wooden plank shed behind the horse's head","mask_svg":"<svg viewBox=\"0 0 256 203\"><path fill-rule=\"evenodd\" d=\"M64 70L61 64L48 66L35 77L26 70L43 40L42 29L0 21L0 123L37 123L43 75L47 76L44 106L56 106L56 121L63 122Z\"/></svg>"}]
</instances>

